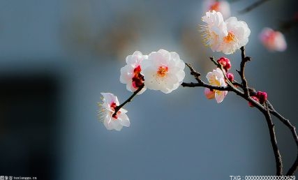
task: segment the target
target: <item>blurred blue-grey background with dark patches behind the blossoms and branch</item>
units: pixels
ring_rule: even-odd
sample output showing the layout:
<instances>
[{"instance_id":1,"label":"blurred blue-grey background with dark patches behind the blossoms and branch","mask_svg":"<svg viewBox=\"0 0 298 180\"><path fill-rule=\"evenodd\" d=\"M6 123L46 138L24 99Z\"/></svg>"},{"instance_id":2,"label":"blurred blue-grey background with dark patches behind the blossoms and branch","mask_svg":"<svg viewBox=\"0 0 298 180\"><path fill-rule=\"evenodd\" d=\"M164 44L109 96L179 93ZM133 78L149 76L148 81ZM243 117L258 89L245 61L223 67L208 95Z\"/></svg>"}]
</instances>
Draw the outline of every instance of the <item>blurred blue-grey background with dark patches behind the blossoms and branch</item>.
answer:
<instances>
[{"instance_id":1,"label":"blurred blue-grey background with dark patches behind the blossoms and branch","mask_svg":"<svg viewBox=\"0 0 298 180\"><path fill-rule=\"evenodd\" d=\"M297 13L295 0L230 1L231 15L251 29L246 66L251 87L267 91L276 110L298 124L297 30L288 49L269 52L258 34L278 29ZM126 56L178 52L203 77L214 68L199 24L202 1L0 1L0 175L38 179L230 179L274 175L267 123L255 108L228 93L223 103L203 88L170 94L145 91L126 105L131 127L106 130L98 122L100 92L123 102L119 82ZM232 73L240 51L227 55ZM193 78L186 69L186 82ZM237 76L236 76L237 77ZM204 79L204 78L203 78ZM237 79L239 80L239 79ZM297 149L290 130L274 119L285 170ZM297 174L297 173L296 173Z\"/></svg>"}]
</instances>

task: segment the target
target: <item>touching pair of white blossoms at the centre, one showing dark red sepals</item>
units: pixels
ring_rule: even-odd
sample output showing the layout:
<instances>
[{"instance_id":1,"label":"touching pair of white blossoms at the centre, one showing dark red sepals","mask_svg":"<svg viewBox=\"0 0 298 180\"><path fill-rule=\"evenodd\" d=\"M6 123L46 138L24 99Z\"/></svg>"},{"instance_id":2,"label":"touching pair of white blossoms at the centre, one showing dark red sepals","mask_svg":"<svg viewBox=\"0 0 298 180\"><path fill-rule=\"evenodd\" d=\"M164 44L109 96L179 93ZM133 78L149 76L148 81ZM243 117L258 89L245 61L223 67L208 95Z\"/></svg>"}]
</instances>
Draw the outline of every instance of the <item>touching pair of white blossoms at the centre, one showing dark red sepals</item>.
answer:
<instances>
[{"instance_id":1,"label":"touching pair of white blossoms at the centre, one showing dark red sepals","mask_svg":"<svg viewBox=\"0 0 298 180\"><path fill-rule=\"evenodd\" d=\"M185 63L177 52L158 50L149 55L136 51L126 57L126 66L121 68L120 82L128 91L143 93L147 88L170 93L177 89L185 77Z\"/></svg>"}]
</instances>

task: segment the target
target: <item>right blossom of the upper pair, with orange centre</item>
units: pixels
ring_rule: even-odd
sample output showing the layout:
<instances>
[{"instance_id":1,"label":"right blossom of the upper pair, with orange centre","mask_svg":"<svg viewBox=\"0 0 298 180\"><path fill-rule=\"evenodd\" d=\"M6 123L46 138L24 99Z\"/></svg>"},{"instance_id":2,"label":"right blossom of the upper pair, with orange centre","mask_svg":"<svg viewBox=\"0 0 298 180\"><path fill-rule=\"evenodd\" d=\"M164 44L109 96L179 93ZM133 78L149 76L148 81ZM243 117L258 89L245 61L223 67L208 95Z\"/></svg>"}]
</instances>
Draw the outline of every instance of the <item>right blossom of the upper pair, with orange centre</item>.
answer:
<instances>
[{"instance_id":1,"label":"right blossom of the upper pair, with orange centre","mask_svg":"<svg viewBox=\"0 0 298 180\"><path fill-rule=\"evenodd\" d=\"M238 21L236 17L229 17L225 23L227 24L228 35L223 37L221 51L225 54L232 54L248 43L251 30L246 22Z\"/></svg>"}]
</instances>

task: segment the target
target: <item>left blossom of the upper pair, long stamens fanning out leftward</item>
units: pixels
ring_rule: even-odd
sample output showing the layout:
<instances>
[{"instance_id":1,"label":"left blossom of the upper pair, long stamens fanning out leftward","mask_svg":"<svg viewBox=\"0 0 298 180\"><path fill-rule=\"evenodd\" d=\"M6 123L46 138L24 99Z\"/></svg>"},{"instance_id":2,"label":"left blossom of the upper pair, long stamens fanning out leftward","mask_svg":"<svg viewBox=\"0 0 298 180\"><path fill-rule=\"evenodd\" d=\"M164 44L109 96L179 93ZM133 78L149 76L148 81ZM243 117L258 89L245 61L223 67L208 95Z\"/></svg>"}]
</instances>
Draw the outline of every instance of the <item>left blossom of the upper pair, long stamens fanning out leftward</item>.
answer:
<instances>
[{"instance_id":1,"label":"left blossom of the upper pair, long stamens fanning out leftward","mask_svg":"<svg viewBox=\"0 0 298 180\"><path fill-rule=\"evenodd\" d=\"M223 21L223 15L220 12L212 10L202 17L202 21L207 25L202 25L202 38L204 43L211 48L213 52L221 51L223 37L228 35L227 26Z\"/></svg>"}]
</instances>

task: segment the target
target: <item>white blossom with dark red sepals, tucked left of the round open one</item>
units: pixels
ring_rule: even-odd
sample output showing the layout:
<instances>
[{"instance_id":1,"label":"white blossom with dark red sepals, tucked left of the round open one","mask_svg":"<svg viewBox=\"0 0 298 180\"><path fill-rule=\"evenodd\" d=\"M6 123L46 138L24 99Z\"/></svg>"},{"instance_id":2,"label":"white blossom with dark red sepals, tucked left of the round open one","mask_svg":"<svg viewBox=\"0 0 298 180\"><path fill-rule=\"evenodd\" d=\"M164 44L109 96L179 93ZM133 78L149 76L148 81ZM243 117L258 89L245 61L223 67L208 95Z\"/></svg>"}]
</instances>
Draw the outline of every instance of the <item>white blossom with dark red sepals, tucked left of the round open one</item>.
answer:
<instances>
[{"instance_id":1,"label":"white blossom with dark red sepals, tucked left of the round open one","mask_svg":"<svg viewBox=\"0 0 298 180\"><path fill-rule=\"evenodd\" d=\"M144 84L144 76L141 74L141 63L147 58L147 55L143 55L142 52L139 51L126 57L126 66L122 67L120 70L120 82L126 84L126 89L128 91L134 92ZM137 94L141 94L145 90L146 87L143 87Z\"/></svg>"}]
</instances>

